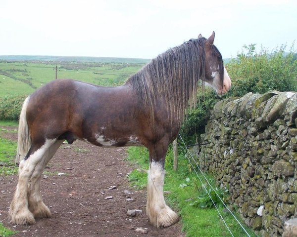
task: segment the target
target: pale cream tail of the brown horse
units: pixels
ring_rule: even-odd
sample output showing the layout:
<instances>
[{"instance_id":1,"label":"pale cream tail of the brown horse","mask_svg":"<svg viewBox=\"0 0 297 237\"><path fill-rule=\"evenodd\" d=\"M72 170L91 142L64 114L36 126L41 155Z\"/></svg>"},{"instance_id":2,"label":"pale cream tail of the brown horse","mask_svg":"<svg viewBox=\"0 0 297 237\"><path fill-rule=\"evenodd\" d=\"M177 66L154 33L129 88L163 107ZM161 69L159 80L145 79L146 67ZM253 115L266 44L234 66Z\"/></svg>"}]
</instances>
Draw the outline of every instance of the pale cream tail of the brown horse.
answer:
<instances>
[{"instance_id":1,"label":"pale cream tail of the brown horse","mask_svg":"<svg viewBox=\"0 0 297 237\"><path fill-rule=\"evenodd\" d=\"M17 138L17 151L16 151L16 158L15 158L15 161L17 163L27 155L31 147L31 136L29 133L27 118L26 118L26 111L27 111L29 99L30 99L30 96L28 96L25 99L22 107L22 111L20 114L18 138Z\"/></svg>"}]
</instances>

